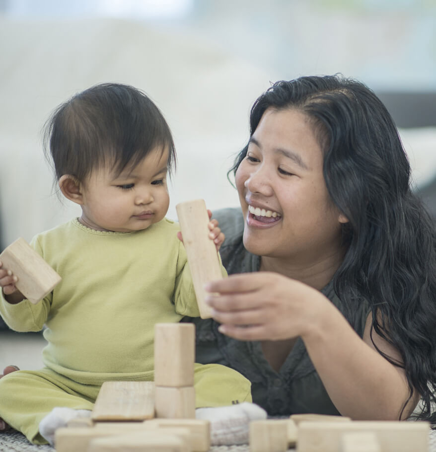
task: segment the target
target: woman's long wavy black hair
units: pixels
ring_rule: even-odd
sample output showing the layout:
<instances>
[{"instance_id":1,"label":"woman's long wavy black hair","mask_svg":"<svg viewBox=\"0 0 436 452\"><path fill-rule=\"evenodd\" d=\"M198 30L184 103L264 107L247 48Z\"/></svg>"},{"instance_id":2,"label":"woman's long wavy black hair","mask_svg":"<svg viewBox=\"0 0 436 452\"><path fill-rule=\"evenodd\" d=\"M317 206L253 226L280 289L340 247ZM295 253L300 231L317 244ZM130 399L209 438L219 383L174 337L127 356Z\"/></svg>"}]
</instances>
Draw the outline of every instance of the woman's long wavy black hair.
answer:
<instances>
[{"instance_id":1,"label":"woman's long wavy black hair","mask_svg":"<svg viewBox=\"0 0 436 452\"><path fill-rule=\"evenodd\" d=\"M335 291L348 318L359 299L369 302L371 338L375 331L400 352L402 364L380 353L404 368L410 396L415 388L422 397L419 418L435 423L435 224L412 191L409 161L389 112L366 85L340 75L274 83L251 109L251 135L268 108L297 109L313 125L328 192L349 220ZM229 172L246 153L247 146Z\"/></svg>"}]
</instances>

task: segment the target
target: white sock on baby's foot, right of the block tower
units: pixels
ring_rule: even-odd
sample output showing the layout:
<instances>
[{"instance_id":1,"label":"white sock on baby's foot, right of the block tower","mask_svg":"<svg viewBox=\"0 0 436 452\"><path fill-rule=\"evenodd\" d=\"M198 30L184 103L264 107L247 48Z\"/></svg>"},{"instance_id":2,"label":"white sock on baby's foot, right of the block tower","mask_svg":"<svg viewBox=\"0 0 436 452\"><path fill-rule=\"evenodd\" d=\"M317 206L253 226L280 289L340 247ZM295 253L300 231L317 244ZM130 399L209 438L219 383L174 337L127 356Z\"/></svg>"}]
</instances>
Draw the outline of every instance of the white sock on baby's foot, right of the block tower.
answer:
<instances>
[{"instance_id":1,"label":"white sock on baby's foot, right of the block tower","mask_svg":"<svg viewBox=\"0 0 436 452\"><path fill-rule=\"evenodd\" d=\"M267 418L267 412L255 403L243 402L216 408L197 408L197 419L211 422L212 446L247 444L250 421Z\"/></svg>"}]
</instances>

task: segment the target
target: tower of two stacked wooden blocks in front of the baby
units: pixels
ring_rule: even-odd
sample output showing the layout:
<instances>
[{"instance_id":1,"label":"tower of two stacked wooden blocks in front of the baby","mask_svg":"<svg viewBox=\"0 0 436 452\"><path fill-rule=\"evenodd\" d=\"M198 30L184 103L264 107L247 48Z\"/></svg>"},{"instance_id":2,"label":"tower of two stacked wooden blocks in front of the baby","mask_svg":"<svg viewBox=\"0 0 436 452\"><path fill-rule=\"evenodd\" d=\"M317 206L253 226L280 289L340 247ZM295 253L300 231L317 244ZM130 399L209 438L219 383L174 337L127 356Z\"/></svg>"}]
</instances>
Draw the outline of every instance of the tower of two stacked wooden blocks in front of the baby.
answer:
<instances>
[{"instance_id":1,"label":"tower of two stacked wooden blocks in front of the baby","mask_svg":"<svg viewBox=\"0 0 436 452\"><path fill-rule=\"evenodd\" d=\"M158 418L195 418L195 327L156 323L154 327L154 410Z\"/></svg>"}]
</instances>

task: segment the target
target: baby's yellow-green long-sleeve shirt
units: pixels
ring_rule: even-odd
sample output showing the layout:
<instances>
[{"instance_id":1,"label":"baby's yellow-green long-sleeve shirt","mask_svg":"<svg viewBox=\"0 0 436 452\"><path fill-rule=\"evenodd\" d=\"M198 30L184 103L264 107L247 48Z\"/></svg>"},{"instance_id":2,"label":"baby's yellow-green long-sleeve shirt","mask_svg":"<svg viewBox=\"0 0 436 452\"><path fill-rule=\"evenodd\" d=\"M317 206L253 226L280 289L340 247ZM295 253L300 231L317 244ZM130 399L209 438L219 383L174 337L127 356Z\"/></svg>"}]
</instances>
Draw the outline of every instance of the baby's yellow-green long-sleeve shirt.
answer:
<instances>
[{"instance_id":1,"label":"baby's yellow-green long-sleeve shirt","mask_svg":"<svg viewBox=\"0 0 436 452\"><path fill-rule=\"evenodd\" d=\"M31 246L62 281L37 304L1 295L0 314L16 331L46 325L44 364L75 381L152 379L154 324L199 315L177 230L167 219L135 232L74 219L38 234Z\"/></svg>"}]
</instances>

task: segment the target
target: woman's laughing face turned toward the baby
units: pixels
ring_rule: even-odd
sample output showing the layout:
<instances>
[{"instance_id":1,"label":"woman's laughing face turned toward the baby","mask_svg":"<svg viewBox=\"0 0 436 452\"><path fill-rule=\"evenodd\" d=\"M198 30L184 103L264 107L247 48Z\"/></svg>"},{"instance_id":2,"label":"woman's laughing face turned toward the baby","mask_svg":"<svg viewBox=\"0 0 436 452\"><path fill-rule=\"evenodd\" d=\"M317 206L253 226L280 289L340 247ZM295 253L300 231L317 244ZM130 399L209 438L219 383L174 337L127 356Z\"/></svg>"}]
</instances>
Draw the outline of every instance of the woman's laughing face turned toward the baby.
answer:
<instances>
[{"instance_id":1,"label":"woman's laughing face turned toward the baby","mask_svg":"<svg viewBox=\"0 0 436 452\"><path fill-rule=\"evenodd\" d=\"M248 251L309 266L337 255L347 219L330 200L322 166L307 116L265 111L235 178Z\"/></svg>"}]
</instances>

